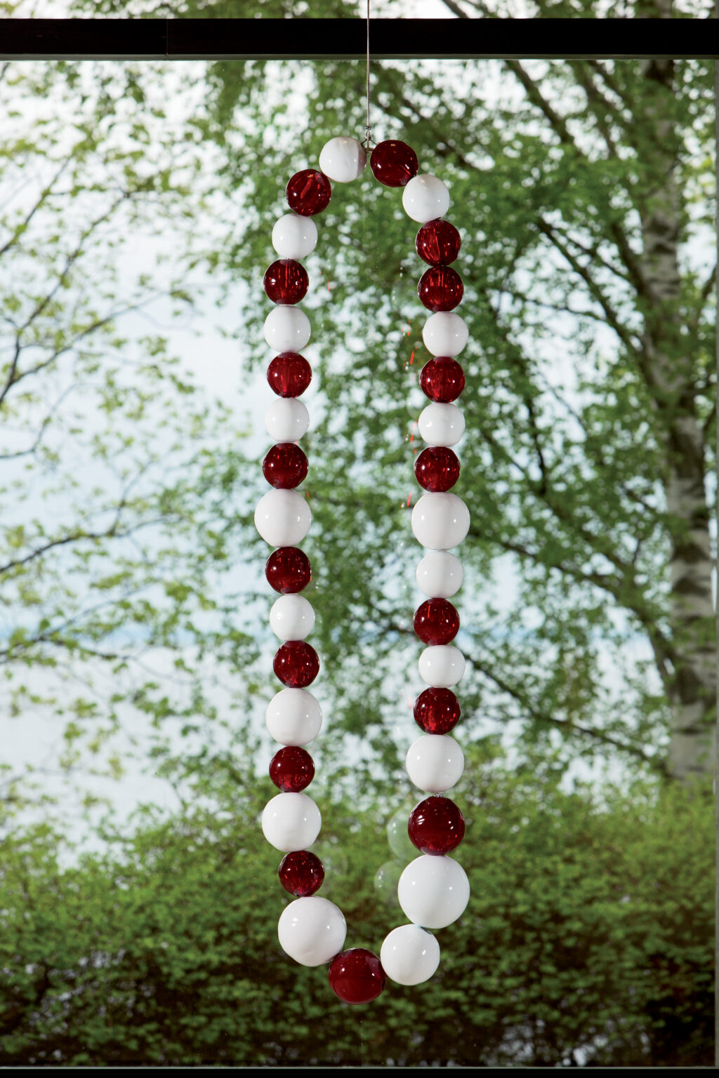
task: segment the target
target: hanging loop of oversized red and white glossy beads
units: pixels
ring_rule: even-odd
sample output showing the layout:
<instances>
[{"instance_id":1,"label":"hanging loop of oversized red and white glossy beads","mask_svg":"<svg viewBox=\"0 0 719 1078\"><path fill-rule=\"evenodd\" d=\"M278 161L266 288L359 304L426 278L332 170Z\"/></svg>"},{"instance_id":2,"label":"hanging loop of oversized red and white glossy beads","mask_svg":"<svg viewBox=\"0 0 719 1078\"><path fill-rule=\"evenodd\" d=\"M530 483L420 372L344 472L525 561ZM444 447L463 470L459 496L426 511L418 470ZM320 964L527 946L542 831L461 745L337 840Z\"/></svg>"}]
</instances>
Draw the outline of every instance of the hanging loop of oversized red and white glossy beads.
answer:
<instances>
[{"instance_id":1,"label":"hanging loop of oversized red and white glossy beads","mask_svg":"<svg viewBox=\"0 0 719 1078\"><path fill-rule=\"evenodd\" d=\"M319 658L306 637L315 624L315 612L300 593L312 579L306 554L299 543L307 535L312 513L298 487L307 474L307 457L298 442L309 426L307 409L299 399L312 379L312 369L301 355L309 341L309 319L296 304L304 299L308 278L299 261L317 243L314 218L330 203L331 182L358 179L367 164L367 152L357 139L333 138L322 149L319 169L296 172L287 184L289 213L276 222L272 243L278 259L264 275L264 288L275 307L265 320L264 333L276 353L267 368L267 382L276 393L265 415L267 433L276 443L262 464L271 489L254 514L258 531L272 547L265 576L279 597L269 611L269 624L281 645L274 672L284 688L269 702L267 729L282 747L273 757L269 775L280 792L265 806L262 829L285 857L279 879L294 896L278 926L282 949L305 966L329 963L329 980L335 994L349 1004L375 999L386 978L399 984L427 981L439 965L440 946L429 929L444 928L459 917L469 900L469 882L461 866L447 855L465 833L465 819L457 805L443 796L461 776L465 761L451 731L459 720L459 702L452 691L465 671L461 652L452 640L459 630L459 616L450 598L461 586L462 569L450 550L469 529L469 511L451 488L459 478L459 460L453 452L462 437L465 420L454 404L465 388L465 375L456 356L467 344L467 326L454 313L462 298L461 278L452 268L459 253L460 237L444 220L450 193L435 176L418 174L417 156L404 142L386 141L374 147L370 165L375 178L389 188L402 188L402 204L412 220L420 223L416 251L428 264L418 293L432 314L423 331L433 357L421 371L420 386L430 403L418 420L427 443L415 460L415 475L425 493L412 512L412 529L426 548L417 566L417 583L427 596L414 616L416 635L426 645L419 657L419 675L428 688L414 705L414 718L423 735L406 756L412 783L428 793L410 815L407 831L420 856L405 868L398 885L398 899L410 924L393 928L379 956L364 948L343 950L347 925L342 911L316 893L324 871L308 849L316 841L319 808L303 792L312 783L315 766L303 747L320 731L322 713L308 686L319 672Z\"/></svg>"}]
</instances>

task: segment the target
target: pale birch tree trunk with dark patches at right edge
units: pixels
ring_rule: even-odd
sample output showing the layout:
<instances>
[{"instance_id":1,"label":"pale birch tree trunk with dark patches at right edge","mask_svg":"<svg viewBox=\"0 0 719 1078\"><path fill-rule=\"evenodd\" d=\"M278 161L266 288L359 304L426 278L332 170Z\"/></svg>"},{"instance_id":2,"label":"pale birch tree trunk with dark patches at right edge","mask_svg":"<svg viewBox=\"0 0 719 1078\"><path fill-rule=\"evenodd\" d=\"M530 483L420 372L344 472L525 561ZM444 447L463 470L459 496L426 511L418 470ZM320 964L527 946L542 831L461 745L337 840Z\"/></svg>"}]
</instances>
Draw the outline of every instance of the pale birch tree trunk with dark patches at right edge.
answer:
<instances>
[{"instance_id":1,"label":"pale birch tree trunk with dark patches at right edge","mask_svg":"<svg viewBox=\"0 0 719 1078\"><path fill-rule=\"evenodd\" d=\"M651 12L666 18L670 0ZM706 489L707 450L696 411L693 356L679 318L678 243L682 206L676 179L679 140L672 119L674 60L644 61L648 83L644 138L651 162L641 209L645 332L642 367L663 430L666 507L672 517L670 639L667 683L672 705L669 773L681 780L714 771L715 616ZM641 122L639 118L638 122Z\"/></svg>"}]
</instances>

